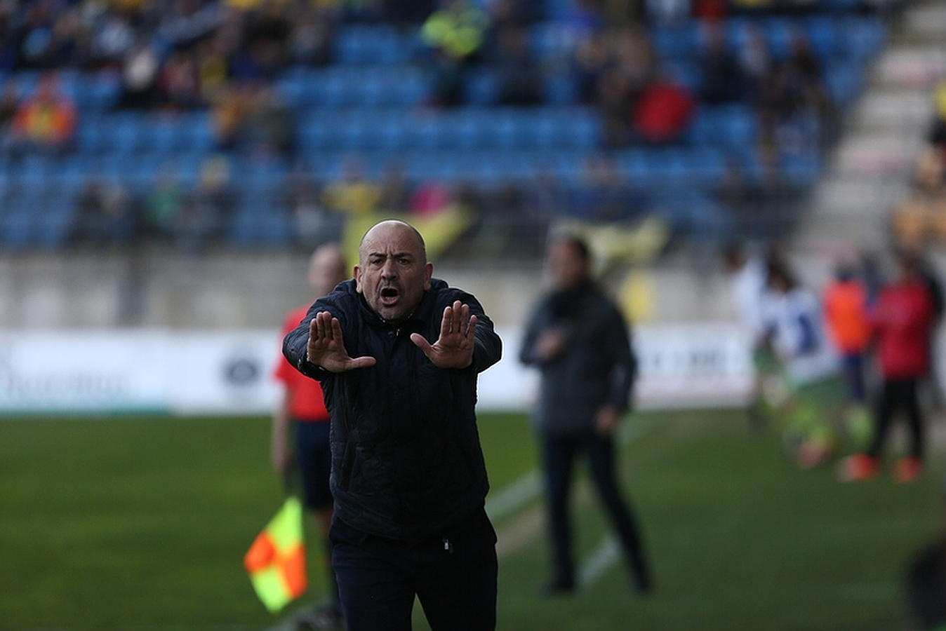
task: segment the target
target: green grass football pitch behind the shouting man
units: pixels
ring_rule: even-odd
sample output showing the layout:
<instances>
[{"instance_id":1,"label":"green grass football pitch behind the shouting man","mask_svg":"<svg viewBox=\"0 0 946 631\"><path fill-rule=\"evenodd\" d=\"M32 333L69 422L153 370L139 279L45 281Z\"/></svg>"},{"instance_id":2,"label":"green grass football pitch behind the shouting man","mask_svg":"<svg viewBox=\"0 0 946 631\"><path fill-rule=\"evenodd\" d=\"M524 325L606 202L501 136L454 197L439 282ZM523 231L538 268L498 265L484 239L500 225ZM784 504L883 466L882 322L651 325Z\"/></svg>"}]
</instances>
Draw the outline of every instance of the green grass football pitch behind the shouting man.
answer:
<instances>
[{"instance_id":1,"label":"green grass football pitch behind the shouting man","mask_svg":"<svg viewBox=\"0 0 946 631\"><path fill-rule=\"evenodd\" d=\"M534 469L522 415L481 415L493 496ZM798 471L774 432L728 411L642 413L625 423L622 485L657 592L631 592L620 559L577 594L545 598L541 501L496 521L499 629L898 629L902 574L944 524L940 478L841 485ZM0 420L0 629L265 629L241 565L281 498L267 418ZM607 535L587 483L577 551ZM314 530L310 529L314 533ZM314 537L313 537L314 540ZM324 596L309 547L305 603ZM304 604L305 604L304 603ZM426 629L420 607L415 628Z\"/></svg>"}]
</instances>

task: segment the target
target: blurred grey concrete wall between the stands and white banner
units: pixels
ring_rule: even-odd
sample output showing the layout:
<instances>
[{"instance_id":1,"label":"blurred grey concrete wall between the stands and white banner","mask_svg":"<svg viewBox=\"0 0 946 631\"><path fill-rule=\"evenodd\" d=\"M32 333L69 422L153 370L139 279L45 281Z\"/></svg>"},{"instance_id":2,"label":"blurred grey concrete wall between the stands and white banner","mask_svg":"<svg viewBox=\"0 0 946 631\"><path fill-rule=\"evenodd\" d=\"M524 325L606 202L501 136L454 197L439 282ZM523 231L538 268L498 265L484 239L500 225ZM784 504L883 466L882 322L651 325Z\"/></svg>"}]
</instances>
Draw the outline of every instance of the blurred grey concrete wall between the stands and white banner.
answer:
<instances>
[{"instance_id":1,"label":"blurred grey concrete wall between the stands and white banner","mask_svg":"<svg viewBox=\"0 0 946 631\"><path fill-rule=\"evenodd\" d=\"M71 329L270 327L307 302L307 257L287 252L187 256L127 253L0 255L0 328ZM542 288L530 265L435 264L434 274L482 301L501 325L526 317ZM642 274L646 315L655 322L732 318L725 277L711 261L674 260ZM607 279L618 291L621 276Z\"/></svg>"}]
</instances>

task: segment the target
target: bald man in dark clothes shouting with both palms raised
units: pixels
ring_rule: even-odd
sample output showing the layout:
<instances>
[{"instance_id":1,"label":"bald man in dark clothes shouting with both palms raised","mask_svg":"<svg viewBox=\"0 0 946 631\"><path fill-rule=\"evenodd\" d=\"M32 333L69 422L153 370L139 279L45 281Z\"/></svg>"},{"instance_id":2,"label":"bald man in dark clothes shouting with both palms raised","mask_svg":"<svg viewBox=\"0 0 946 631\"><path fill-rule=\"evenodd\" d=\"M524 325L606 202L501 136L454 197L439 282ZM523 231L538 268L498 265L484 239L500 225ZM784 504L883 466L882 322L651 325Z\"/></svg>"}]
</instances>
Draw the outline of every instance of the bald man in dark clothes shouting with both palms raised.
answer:
<instances>
[{"instance_id":1,"label":"bald man in dark clothes shouting with both palms raised","mask_svg":"<svg viewBox=\"0 0 946 631\"><path fill-rule=\"evenodd\" d=\"M309 308L283 353L331 415L332 564L349 631L496 627L496 533L477 375L501 342L482 306L432 278L421 234L382 221L355 278Z\"/></svg>"}]
</instances>

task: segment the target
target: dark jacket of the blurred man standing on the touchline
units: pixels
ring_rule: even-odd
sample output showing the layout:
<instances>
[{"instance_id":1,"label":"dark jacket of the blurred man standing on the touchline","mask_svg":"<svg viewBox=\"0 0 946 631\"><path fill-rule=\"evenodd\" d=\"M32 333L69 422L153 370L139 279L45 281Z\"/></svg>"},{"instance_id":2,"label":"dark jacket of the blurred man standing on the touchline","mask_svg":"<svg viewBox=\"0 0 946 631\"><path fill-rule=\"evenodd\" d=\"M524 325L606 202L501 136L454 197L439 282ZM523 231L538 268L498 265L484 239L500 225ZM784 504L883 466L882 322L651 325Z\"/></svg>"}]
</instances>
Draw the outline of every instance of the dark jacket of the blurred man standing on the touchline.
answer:
<instances>
[{"instance_id":1,"label":"dark jacket of the blurred man standing on the touchline","mask_svg":"<svg viewBox=\"0 0 946 631\"><path fill-rule=\"evenodd\" d=\"M543 361L535 344L551 328L564 332L568 341L558 356ZM619 412L628 408L637 357L621 312L592 281L539 298L519 360L541 373L533 419L543 434L584 434L594 428L595 415L605 404Z\"/></svg>"}]
</instances>

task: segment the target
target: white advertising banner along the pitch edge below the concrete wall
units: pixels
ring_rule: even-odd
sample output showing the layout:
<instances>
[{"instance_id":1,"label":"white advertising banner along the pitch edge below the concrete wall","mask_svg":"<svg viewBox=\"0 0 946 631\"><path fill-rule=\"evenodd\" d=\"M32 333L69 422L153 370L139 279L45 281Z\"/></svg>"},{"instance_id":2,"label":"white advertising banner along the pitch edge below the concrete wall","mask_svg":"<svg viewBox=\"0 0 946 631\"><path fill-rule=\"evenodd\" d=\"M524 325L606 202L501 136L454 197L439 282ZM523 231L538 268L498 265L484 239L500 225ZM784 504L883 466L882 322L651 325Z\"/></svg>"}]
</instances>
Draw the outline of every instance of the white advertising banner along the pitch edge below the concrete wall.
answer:
<instances>
[{"instance_id":1,"label":"white advertising banner along the pitch edge below the concrete wall","mask_svg":"<svg viewBox=\"0 0 946 631\"><path fill-rule=\"evenodd\" d=\"M480 378L482 410L525 410L537 384L518 363L520 332L500 329L503 359ZM641 326L643 407L745 400L745 339L728 325ZM266 414L279 397L274 330L0 332L0 413Z\"/></svg>"}]
</instances>

